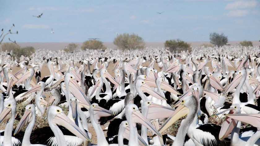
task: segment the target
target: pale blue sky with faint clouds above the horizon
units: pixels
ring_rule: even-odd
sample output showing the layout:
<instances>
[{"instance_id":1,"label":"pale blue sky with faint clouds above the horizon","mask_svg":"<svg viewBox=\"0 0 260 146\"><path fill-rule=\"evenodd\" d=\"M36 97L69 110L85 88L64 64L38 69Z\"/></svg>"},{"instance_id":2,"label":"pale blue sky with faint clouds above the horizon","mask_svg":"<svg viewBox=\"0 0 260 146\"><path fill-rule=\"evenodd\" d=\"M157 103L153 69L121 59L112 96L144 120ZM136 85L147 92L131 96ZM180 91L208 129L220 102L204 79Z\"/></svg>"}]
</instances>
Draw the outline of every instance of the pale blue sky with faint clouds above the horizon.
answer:
<instances>
[{"instance_id":1,"label":"pale blue sky with faint clouds above the horizon","mask_svg":"<svg viewBox=\"0 0 260 146\"><path fill-rule=\"evenodd\" d=\"M158 14L157 12L163 12ZM41 18L33 17L40 15ZM259 0L0 0L0 29L16 42L113 42L135 33L146 42L260 40ZM55 33L51 33L51 29ZM0 32L1 34L1 32Z\"/></svg>"}]
</instances>

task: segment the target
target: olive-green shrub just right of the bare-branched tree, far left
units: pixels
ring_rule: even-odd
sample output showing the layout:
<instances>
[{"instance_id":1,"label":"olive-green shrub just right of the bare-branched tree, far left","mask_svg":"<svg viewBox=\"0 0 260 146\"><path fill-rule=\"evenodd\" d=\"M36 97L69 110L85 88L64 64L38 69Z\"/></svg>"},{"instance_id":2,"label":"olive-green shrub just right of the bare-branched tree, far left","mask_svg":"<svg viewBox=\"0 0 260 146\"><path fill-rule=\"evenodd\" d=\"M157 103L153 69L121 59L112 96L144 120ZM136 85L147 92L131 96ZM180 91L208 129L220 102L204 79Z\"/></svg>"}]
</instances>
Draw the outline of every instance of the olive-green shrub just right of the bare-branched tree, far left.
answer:
<instances>
[{"instance_id":1,"label":"olive-green shrub just right of the bare-branched tree, far left","mask_svg":"<svg viewBox=\"0 0 260 146\"><path fill-rule=\"evenodd\" d=\"M34 53L34 48L32 46L27 46L23 48L14 48L12 50L13 57L20 58L22 55L25 57L29 57Z\"/></svg>"}]
</instances>

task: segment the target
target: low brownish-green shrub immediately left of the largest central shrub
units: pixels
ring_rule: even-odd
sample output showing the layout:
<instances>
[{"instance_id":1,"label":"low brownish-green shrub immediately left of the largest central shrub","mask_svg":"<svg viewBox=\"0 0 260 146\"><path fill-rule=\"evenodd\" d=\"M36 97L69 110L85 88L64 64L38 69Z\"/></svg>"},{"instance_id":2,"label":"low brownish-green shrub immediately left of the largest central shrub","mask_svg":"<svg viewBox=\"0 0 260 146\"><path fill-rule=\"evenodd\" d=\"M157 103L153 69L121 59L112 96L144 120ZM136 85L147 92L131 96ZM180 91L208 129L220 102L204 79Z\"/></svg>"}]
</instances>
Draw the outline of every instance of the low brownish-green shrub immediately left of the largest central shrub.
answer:
<instances>
[{"instance_id":1,"label":"low brownish-green shrub immediately left of the largest central shrub","mask_svg":"<svg viewBox=\"0 0 260 146\"><path fill-rule=\"evenodd\" d=\"M86 50L86 49L106 49L106 46L103 45L102 41L98 41L98 40L88 40L85 41L82 46L81 46L82 50Z\"/></svg>"}]
</instances>

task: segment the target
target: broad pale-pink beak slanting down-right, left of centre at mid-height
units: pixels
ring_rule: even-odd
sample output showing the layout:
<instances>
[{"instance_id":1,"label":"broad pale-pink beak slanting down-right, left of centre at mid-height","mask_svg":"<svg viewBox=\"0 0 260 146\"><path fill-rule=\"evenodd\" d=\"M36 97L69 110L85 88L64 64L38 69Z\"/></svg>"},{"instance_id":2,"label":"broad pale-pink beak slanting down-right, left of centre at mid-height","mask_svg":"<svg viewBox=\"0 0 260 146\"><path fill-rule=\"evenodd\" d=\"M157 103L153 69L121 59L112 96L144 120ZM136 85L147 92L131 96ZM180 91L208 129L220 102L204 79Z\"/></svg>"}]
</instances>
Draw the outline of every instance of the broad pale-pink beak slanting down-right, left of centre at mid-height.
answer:
<instances>
[{"instance_id":1,"label":"broad pale-pink beak slanting down-right, left of centre at mid-height","mask_svg":"<svg viewBox=\"0 0 260 146\"><path fill-rule=\"evenodd\" d=\"M86 105L91 105L88 97L85 95L85 92L79 86L76 79L71 79L69 81L69 90L78 100L80 100Z\"/></svg>"}]
</instances>

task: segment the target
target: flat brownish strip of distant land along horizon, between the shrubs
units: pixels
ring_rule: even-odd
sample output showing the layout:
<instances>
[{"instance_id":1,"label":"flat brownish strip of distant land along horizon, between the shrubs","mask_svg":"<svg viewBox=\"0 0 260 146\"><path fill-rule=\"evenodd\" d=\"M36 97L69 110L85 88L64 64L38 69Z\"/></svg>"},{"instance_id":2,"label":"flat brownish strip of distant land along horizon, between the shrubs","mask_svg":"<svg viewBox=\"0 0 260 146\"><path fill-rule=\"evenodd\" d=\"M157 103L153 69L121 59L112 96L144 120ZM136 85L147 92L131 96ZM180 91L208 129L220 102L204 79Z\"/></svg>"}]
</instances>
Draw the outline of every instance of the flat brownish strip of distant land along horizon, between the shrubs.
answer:
<instances>
[{"instance_id":1,"label":"flat brownish strip of distant land along horizon, between the shrubs","mask_svg":"<svg viewBox=\"0 0 260 146\"><path fill-rule=\"evenodd\" d=\"M229 41L228 43L230 45L238 45L240 41ZM252 41L253 45L260 45L259 41ZM197 42L188 42L191 44L192 47L200 47L202 44L209 44L210 42L207 41L197 41ZM26 46L33 46L35 49L49 49L49 50L60 50L64 49L65 46L67 46L68 42L46 42L46 43L17 43L21 47ZM76 43L80 46L82 45L82 42ZM116 45L114 45L112 42L104 42L104 45L108 48L117 48ZM164 42L145 42L146 47L152 47L152 48L164 48Z\"/></svg>"}]
</instances>

